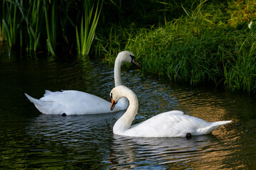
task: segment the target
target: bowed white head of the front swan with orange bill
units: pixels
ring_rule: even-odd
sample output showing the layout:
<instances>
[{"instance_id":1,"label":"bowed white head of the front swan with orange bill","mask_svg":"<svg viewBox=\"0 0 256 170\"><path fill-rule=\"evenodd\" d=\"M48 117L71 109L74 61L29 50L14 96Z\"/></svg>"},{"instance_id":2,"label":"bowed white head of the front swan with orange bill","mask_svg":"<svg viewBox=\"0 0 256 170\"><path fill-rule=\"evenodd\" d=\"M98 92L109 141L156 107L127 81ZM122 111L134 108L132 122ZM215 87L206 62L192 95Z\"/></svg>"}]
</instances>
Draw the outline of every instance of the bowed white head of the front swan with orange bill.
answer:
<instances>
[{"instance_id":1,"label":"bowed white head of the front swan with orange bill","mask_svg":"<svg viewBox=\"0 0 256 170\"><path fill-rule=\"evenodd\" d=\"M127 88L126 86L115 86L112 91L110 91L110 100L111 100L111 107L110 110L112 111L114 109L114 106L117 104L117 101L120 98L128 98L128 100L130 99L134 99L136 98L137 100L137 96L136 94L134 94L134 92Z\"/></svg>"}]
</instances>

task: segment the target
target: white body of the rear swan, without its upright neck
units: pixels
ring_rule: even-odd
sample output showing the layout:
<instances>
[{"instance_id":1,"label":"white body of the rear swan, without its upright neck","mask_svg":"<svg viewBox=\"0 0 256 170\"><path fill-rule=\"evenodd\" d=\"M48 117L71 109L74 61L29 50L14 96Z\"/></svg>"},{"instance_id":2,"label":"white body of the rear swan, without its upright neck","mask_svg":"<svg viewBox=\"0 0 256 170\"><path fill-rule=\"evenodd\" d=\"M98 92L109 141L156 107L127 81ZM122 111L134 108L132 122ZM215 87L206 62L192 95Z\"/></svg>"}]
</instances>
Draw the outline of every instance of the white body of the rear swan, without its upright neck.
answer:
<instances>
[{"instance_id":1,"label":"white body of the rear swan, without its upright neck","mask_svg":"<svg viewBox=\"0 0 256 170\"><path fill-rule=\"evenodd\" d=\"M32 100L31 97L28 99L35 104L39 111L45 114L83 115L122 110L117 106L113 111L110 111L110 102L82 91L46 91L40 100L36 98Z\"/></svg>"}]
</instances>

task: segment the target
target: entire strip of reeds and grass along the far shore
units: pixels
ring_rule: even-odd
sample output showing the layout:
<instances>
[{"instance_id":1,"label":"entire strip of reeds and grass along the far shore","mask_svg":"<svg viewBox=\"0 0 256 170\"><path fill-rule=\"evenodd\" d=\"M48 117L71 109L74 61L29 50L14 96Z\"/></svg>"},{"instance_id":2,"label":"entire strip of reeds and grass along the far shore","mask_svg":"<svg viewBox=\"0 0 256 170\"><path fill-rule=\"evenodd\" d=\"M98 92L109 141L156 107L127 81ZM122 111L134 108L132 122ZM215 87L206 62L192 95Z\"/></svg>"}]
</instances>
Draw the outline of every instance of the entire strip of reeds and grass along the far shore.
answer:
<instances>
[{"instance_id":1,"label":"entire strip of reeds and grass along the far shore","mask_svg":"<svg viewBox=\"0 0 256 170\"><path fill-rule=\"evenodd\" d=\"M1 40L34 53L101 56L108 64L130 50L142 74L256 94L255 1L57 2L2 1Z\"/></svg>"}]
</instances>

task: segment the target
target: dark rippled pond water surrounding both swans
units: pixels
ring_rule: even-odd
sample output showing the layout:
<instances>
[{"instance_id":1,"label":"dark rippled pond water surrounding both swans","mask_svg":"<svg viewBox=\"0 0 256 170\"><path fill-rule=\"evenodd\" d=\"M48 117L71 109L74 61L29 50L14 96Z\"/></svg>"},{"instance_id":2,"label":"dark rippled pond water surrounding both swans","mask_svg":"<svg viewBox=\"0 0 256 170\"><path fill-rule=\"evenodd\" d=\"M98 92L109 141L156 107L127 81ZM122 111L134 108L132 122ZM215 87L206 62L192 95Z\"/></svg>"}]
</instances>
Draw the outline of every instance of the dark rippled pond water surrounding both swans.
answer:
<instances>
[{"instance_id":1,"label":"dark rippled pond water surrounding both swans","mask_svg":"<svg viewBox=\"0 0 256 170\"><path fill-rule=\"evenodd\" d=\"M187 140L113 135L124 111L43 115L25 92L41 98L46 89L74 89L109 100L113 68L88 58L24 57L2 45L0 169L256 169L255 97L171 84L136 67L122 69L122 81L139 98L134 123L171 110L233 123Z\"/></svg>"}]
</instances>

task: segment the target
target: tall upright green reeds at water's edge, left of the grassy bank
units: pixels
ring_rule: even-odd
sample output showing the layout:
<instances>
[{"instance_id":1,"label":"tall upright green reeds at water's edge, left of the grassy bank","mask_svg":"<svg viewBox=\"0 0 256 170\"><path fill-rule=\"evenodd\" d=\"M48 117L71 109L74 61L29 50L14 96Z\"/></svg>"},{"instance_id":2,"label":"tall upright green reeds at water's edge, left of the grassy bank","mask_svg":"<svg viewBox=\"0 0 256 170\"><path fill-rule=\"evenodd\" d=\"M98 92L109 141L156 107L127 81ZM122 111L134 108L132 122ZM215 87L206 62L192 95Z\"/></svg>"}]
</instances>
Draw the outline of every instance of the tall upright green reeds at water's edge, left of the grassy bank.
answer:
<instances>
[{"instance_id":1,"label":"tall upright green reeds at water's edge, left of the grassy bank","mask_svg":"<svg viewBox=\"0 0 256 170\"><path fill-rule=\"evenodd\" d=\"M33 52L47 49L55 55L58 45L69 45L77 35L81 42L78 53L88 54L102 8L100 0L96 5L93 3L3 0L0 2L0 38L6 38L10 47L26 47L26 50ZM78 26L82 30L76 28Z\"/></svg>"}]
</instances>

